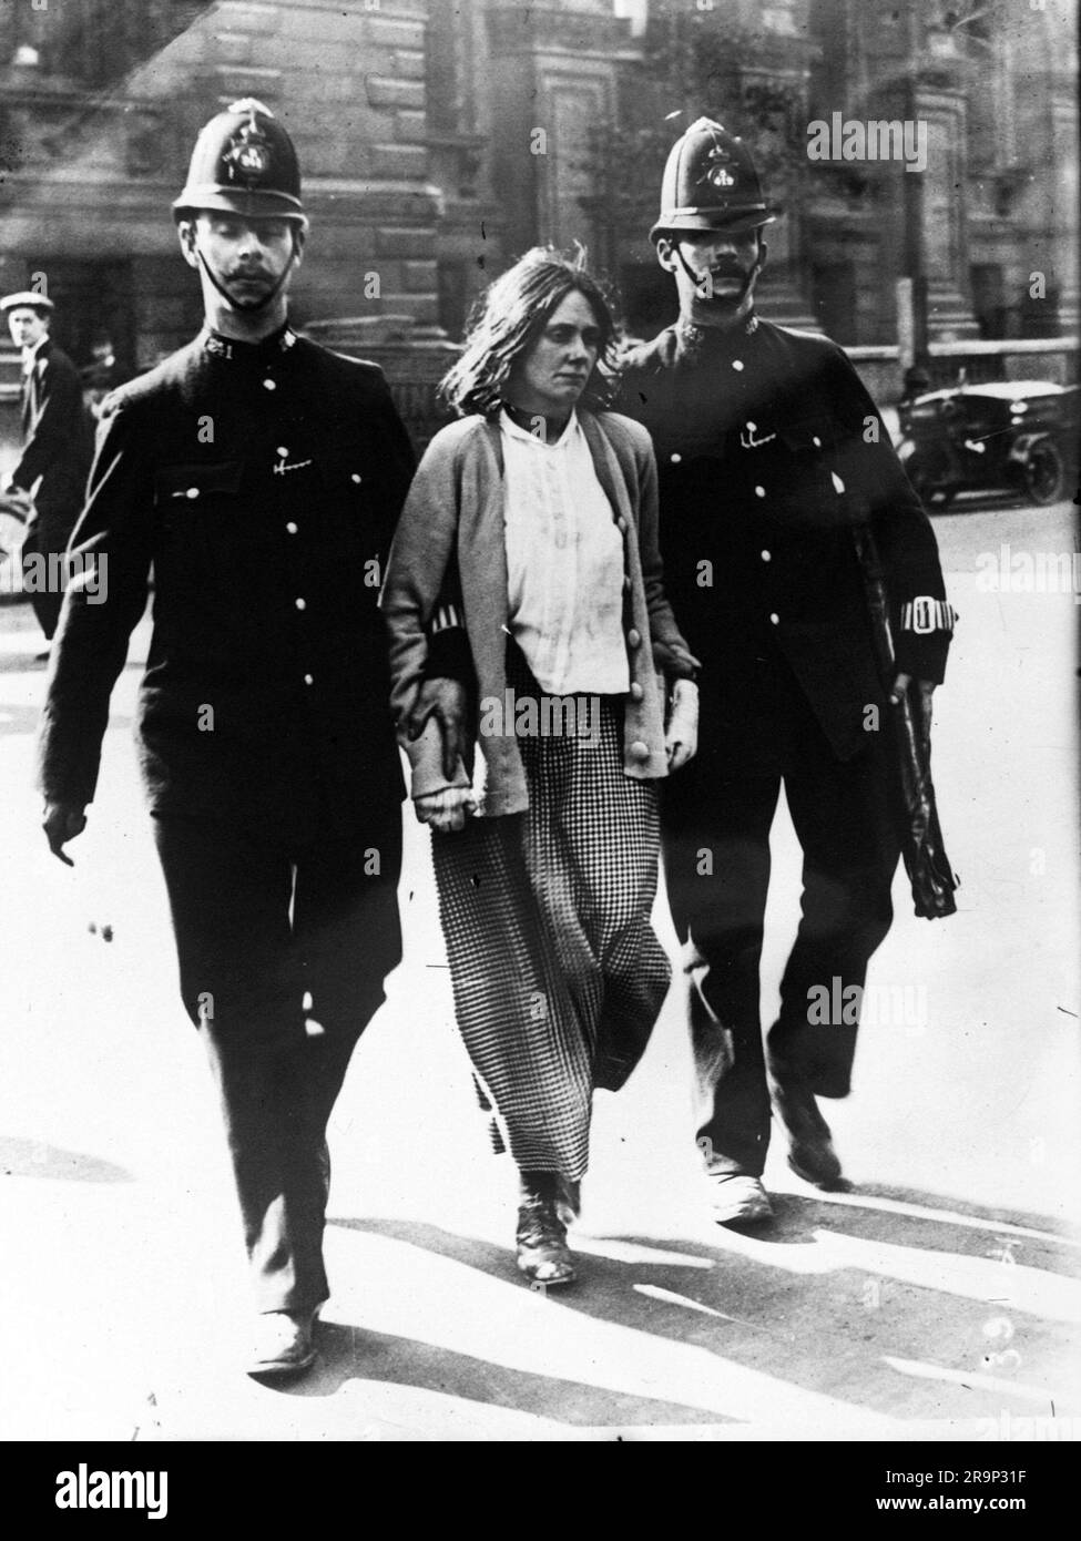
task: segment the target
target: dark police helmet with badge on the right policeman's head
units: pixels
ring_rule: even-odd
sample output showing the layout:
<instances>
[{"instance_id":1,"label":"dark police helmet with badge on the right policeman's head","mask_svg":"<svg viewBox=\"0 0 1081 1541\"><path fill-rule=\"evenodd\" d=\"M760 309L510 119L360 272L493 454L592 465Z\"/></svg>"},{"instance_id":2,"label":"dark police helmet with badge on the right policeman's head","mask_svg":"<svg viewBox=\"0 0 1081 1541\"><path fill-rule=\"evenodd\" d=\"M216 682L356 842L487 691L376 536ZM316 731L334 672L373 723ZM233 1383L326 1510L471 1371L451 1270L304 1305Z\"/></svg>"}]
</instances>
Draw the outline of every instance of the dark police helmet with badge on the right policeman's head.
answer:
<instances>
[{"instance_id":1,"label":"dark police helmet with badge on the right policeman's head","mask_svg":"<svg viewBox=\"0 0 1081 1541\"><path fill-rule=\"evenodd\" d=\"M649 239L680 230L728 230L732 234L769 225L780 210L762 197L751 151L711 117L700 117L668 153L660 183L660 217Z\"/></svg>"}]
</instances>

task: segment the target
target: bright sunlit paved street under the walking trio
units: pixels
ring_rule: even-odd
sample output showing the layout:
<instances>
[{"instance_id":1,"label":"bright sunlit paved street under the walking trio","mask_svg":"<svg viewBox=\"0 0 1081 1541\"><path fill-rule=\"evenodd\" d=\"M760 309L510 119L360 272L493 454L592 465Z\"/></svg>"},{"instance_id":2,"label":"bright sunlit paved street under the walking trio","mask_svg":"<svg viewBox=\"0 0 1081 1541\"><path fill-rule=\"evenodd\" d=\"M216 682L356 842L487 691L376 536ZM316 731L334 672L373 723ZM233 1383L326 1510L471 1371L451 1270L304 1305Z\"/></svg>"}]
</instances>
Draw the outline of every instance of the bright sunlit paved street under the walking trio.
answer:
<instances>
[{"instance_id":1,"label":"bright sunlit paved street under the walking trio","mask_svg":"<svg viewBox=\"0 0 1081 1541\"><path fill-rule=\"evenodd\" d=\"M0 1436L1024 1438L1024 1419L1081 1419L1078 610L988 592L978 566L1070 552L1072 510L967 507L936 521L961 612L935 749L961 912L916 920L897 880L856 1091L827 1108L856 1190L808 1188L777 1140L776 1225L708 1222L674 989L631 1085L598 1097L583 1277L524 1288L410 814L407 962L332 1131L324 1355L287 1390L231 1364L239 1227L130 743L146 624L68 871L31 791L39 633L2 607ZM776 846L765 1012L796 918L783 814Z\"/></svg>"}]
</instances>

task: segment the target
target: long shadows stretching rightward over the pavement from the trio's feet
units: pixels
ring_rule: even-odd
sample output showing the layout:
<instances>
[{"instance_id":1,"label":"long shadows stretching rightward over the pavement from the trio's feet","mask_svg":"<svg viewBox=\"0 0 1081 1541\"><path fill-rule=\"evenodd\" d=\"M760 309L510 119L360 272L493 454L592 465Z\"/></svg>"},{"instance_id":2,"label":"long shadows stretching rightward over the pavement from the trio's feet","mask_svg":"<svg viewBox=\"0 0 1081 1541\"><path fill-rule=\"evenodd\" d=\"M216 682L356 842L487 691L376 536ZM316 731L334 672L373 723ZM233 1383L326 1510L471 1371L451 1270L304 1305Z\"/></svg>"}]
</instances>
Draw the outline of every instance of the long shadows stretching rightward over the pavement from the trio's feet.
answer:
<instances>
[{"instance_id":1,"label":"long shadows stretching rightward over the pavement from the trio's feet","mask_svg":"<svg viewBox=\"0 0 1081 1541\"><path fill-rule=\"evenodd\" d=\"M333 1220L523 1288L509 1247L409 1220ZM1035 1234L1016 1234L1016 1231ZM703 1239L581 1234L580 1282L558 1307L691 1345L776 1384L904 1419L1067 1412L1076 1401L1078 1242L1039 1216L901 1188L777 1196L754 1233ZM705 1239L708 1237L708 1239ZM554 1328L558 1330L558 1318ZM723 1422L703 1410L588 1381L521 1373L483 1356L327 1324L325 1368L296 1390L353 1376L540 1412L564 1422ZM634 1353L634 1339L628 1344ZM813 1405L813 1399L811 1399ZM810 1435L813 1438L813 1435Z\"/></svg>"}]
</instances>

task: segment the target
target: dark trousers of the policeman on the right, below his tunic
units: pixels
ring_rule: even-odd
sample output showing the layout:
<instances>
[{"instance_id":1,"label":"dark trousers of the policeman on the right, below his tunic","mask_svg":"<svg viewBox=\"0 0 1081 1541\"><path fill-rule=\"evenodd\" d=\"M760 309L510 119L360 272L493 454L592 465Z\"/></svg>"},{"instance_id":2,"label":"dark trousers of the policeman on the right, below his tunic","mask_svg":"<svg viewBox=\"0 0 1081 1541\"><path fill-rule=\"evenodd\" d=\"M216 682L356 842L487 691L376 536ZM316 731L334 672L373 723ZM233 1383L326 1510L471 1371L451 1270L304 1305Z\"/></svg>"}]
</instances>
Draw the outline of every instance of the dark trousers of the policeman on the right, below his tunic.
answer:
<instances>
[{"instance_id":1,"label":"dark trousers of the policeman on the right, below his tunic","mask_svg":"<svg viewBox=\"0 0 1081 1541\"><path fill-rule=\"evenodd\" d=\"M899 846L884 738L870 735L865 752L840 763L808 715L779 769L734 777L731 758L706 750L662 783L668 897L691 983L697 1140L711 1171L762 1176L769 1143L759 962L782 780L803 849L803 895L768 1036L771 1068L805 1077L817 1096L850 1089L856 1012L827 1025L817 1011L808 1020L808 1006L822 988L830 1002L859 999L845 991L862 991L893 918Z\"/></svg>"}]
</instances>

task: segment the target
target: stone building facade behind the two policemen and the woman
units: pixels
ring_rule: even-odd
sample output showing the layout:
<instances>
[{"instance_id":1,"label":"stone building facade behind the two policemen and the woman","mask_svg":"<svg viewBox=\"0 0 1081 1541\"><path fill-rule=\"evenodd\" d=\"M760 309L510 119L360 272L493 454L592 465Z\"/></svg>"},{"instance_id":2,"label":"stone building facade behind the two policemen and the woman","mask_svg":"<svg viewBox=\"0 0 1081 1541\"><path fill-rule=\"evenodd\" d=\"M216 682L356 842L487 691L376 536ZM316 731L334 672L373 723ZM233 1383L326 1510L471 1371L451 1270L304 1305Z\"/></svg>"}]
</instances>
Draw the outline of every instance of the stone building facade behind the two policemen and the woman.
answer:
<instances>
[{"instance_id":1,"label":"stone building facade behind the two policemen and the woman","mask_svg":"<svg viewBox=\"0 0 1081 1541\"><path fill-rule=\"evenodd\" d=\"M716 100L654 68L679 17L725 60ZM584 240L629 328L665 324L646 231L686 122L665 116L712 109L788 210L771 314L887 344L913 276L931 341L1056 336L1078 311L1075 69L1069 0L0 0L0 287L48 284L80 364L103 337L126 370L174 348L199 300L170 200L199 125L256 96L304 168L296 319L382 359L419 422L473 294L537 240ZM783 122L737 123L762 102ZM836 114L925 120L927 168L811 162L808 123Z\"/></svg>"}]
</instances>

